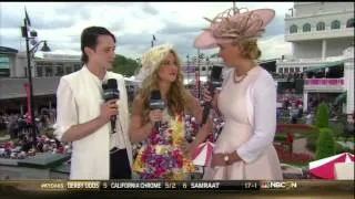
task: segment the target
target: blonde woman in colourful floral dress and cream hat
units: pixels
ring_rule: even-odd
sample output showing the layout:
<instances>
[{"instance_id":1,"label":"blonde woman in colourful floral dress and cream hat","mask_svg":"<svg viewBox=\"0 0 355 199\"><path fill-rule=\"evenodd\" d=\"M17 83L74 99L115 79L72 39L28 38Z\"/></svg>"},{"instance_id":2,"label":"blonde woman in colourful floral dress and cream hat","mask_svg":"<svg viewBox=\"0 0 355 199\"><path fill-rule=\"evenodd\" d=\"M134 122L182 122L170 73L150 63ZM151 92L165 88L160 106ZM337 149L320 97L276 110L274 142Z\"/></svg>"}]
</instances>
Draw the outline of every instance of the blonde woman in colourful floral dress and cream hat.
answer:
<instances>
[{"instance_id":1,"label":"blonde woman in colourful floral dress and cream hat","mask_svg":"<svg viewBox=\"0 0 355 199\"><path fill-rule=\"evenodd\" d=\"M196 139L185 140L184 115L201 121L202 108L183 85L183 72L178 53L170 44L156 45L142 56L141 90L133 102L129 135L132 143L143 142L133 164L141 179L182 180L194 171L191 150L207 136L206 125ZM165 109L150 109L151 93L159 90ZM154 127L161 122L161 127ZM207 123L212 124L212 123Z\"/></svg>"}]
</instances>

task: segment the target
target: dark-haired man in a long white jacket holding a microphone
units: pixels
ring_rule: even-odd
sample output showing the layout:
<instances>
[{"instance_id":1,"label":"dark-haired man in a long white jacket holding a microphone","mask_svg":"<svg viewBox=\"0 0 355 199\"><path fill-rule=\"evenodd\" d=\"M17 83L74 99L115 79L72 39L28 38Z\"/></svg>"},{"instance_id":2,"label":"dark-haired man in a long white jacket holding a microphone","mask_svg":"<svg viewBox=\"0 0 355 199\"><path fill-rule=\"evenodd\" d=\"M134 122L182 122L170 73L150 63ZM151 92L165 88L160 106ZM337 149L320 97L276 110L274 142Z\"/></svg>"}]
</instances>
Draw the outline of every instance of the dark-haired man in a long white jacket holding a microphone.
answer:
<instances>
[{"instance_id":1,"label":"dark-haired man in a long white jacket holding a microphone","mask_svg":"<svg viewBox=\"0 0 355 199\"><path fill-rule=\"evenodd\" d=\"M104 28L87 28L81 51L82 69L61 77L57 90L54 135L73 145L70 179L130 179L132 146L124 78L108 71L115 57L115 38ZM120 98L104 102L102 84L109 78L116 80ZM112 115L118 115L115 133Z\"/></svg>"}]
</instances>

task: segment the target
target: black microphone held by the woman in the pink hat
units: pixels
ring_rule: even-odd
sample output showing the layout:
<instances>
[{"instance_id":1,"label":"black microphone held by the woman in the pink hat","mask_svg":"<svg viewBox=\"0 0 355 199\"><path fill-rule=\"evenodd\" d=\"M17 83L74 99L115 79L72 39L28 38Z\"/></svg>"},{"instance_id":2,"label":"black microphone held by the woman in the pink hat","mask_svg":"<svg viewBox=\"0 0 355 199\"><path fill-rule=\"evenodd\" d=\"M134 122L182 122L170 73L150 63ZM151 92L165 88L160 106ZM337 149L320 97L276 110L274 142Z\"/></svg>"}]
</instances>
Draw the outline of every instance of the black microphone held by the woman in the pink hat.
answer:
<instances>
[{"instance_id":1,"label":"black microphone held by the woman in the pink hat","mask_svg":"<svg viewBox=\"0 0 355 199\"><path fill-rule=\"evenodd\" d=\"M210 91L210 94L211 94L212 98L213 98L214 90L216 87L221 87L222 86L221 77L222 77L222 66L213 65L212 66L212 72L211 72L211 76L210 76L210 80L207 82L209 91ZM211 102L206 102L204 104L203 113L202 113L201 126L204 125L207 122L207 117L210 115L211 106L212 106Z\"/></svg>"}]
</instances>

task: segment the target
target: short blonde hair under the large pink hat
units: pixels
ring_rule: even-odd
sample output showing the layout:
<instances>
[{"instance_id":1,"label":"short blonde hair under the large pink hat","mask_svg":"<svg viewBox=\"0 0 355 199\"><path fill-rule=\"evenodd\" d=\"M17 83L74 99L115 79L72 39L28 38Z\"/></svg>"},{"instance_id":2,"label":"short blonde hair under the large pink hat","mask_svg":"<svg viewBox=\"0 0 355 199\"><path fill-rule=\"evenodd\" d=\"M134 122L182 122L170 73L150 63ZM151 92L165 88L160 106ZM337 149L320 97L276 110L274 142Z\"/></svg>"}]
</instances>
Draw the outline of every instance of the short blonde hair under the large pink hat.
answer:
<instances>
[{"instance_id":1,"label":"short blonde hair under the large pink hat","mask_svg":"<svg viewBox=\"0 0 355 199\"><path fill-rule=\"evenodd\" d=\"M239 42L233 42L233 45L237 45L242 50L242 56L251 60L258 60L262 55L257 46L257 40L241 40Z\"/></svg>"}]
</instances>

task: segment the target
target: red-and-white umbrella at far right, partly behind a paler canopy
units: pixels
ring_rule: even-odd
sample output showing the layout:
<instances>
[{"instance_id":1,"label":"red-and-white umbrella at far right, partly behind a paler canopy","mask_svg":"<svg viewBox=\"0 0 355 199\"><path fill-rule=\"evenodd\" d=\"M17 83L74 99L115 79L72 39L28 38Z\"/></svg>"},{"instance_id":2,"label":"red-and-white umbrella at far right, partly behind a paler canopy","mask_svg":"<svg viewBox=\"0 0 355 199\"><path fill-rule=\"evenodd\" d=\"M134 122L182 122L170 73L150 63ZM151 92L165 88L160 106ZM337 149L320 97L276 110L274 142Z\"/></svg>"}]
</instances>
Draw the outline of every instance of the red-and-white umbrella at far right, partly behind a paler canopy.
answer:
<instances>
[{"instance_id":1,"label":"red-and-white umbrella at far right, partly behind a paler canopy","mask_svg":"<svg viewBox=\"0 0 355 199\"><path fill-rule=\"evenodd\" d=\"M336 163L354 163L354 155L343 153L310 163L310 174L314 178L335 179L334 165Z\"/></svg>"}]
</instances>

